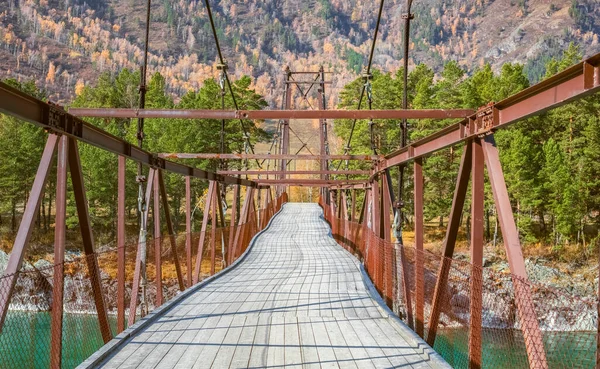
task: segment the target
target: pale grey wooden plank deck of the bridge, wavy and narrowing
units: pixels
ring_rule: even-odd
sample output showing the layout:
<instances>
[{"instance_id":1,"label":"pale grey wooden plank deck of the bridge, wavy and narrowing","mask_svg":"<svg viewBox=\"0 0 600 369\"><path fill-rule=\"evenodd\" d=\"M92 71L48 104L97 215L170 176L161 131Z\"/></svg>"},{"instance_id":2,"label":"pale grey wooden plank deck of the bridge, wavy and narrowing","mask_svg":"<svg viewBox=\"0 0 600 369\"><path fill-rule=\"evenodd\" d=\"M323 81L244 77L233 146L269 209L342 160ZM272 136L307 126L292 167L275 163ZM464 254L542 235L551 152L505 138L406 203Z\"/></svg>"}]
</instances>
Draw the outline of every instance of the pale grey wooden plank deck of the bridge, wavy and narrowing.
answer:
<instances>
[{"instance_id":1,"label":"pale grey wooden plank deck of the bridge, wavy and narrowing","mask_svg":"<svg viewBox=\"0 0 600 369\"><path fill-rule=\"evenodd\" d=\"M316 204L286 204L243 262L100 367L447 368L372 298L321 214Z\"/></svg>"}]
</instances>

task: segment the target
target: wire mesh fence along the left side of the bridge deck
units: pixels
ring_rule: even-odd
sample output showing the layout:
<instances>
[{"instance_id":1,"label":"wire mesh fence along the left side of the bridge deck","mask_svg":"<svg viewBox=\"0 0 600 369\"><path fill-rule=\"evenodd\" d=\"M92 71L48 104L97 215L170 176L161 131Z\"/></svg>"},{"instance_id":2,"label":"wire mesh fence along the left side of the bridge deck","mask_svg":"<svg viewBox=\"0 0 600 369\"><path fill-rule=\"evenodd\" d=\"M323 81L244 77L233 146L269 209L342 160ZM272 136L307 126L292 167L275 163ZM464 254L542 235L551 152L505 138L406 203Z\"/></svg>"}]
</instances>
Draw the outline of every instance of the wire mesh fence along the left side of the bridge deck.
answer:
<instances>
[{"instance_id":1,"label":"wire mesh fence along the left side of the bridge deck","mask_svg":"<svg viewBox=\"0 0 600 369\"><path fill-rule=\"evenodd\" d=\"M146 241L147 310L152 311L160 305L160 301L157 301L159 293L162 294L162 303L180 293L173 251L177 254L184 288L190 287L191 273L195 273L198 262L198 281L221 271L246 251L254 235L266 226L284 201L276 199L262 210L261 224L258 223L256 212L251 210L247 222L219 227L214 232L209 228L204 232L204 237L202 232L198 232L149 238ZM202 245L199 244L200 240L203 240ZM138 249L136 241L122 248L103 247L91 255L68 251L63 263L54 264L52 259L42 259L34 264L24 263L15 275L2 275L0 282L12 277L16 277L16 282L0 332L0 368L48 368L57 347L61 351L61 367L74 368L104 345L103 333L108 333L109 337L119 333L119 315L123 316L126 328ZM201 258L198 258L199 250L202 251ZM120 251L125 254L123 298L119 294ZM94 264L97 268L90 268ZM160 279L156 278L159 275L157 266ZM52 317L52 300L55 272L60 270L64 275L64 292L62 345L59 346L52 343L52 328L57 324ZM100 274L100 298L108 316L109 332L103 332L99 323L95 300L98 296L95 296L91 283L96 277L94 270ZM5 285L0 283L0 286ZM8 288L0 290L0 296L8 293ZM119 305L122 305L122 313L119 313ZM141 317L140 299L135 308L137 321Z\"/></svg>"}]
</instances>

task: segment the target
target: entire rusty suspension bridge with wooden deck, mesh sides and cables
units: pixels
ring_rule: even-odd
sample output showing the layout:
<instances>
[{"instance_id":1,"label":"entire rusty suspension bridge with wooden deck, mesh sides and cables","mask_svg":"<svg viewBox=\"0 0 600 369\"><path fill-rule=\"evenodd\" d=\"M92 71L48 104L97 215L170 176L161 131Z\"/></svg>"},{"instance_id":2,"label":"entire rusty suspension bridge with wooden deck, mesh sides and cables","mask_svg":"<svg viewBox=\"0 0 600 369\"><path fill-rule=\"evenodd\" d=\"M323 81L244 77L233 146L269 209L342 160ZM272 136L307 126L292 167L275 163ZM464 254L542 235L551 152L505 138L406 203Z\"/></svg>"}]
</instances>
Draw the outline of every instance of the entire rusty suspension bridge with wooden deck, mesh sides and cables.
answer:
<instances>
[{"instance_id":1,"label":"entire rusty suspension bridge with wooden deck, mesh sides and cables","mask_svg":"<svg viewBox=\"0 0 600 369\"><path fill-rule=\"evenodd\" d=\"M48 133L7 267L0 277L0 367L600 367L596 358L598 310L591 316L580 315L577 321L561 321L561 311L584 302L565 299L528 281L494 140L497 130L598 92L600 55L477 111L409 110L406 92L402 109L371 110L370 70L381 1L358 109L327 109L325 87L329 82L321 68L315 72L286 70L282 109L240 110L208 0L205 5L220 59L221 88L223 95L226 88L232 94L235 110L145 109L146 64L139 109L66 111L0 83L0 112ZM409 6L405 45L410 19ZM147 48L146 38L146 53ZM407 56L405 47L405 63ZM295 79L303 75L311 79ZM304 85L309 86L307 91L302 90ZM292 110L293 93L306 98L313 86L318 88L319 109ZM369 109L361 110L365 94ZM85 117L137 119L138 144L85 122ZM245 132L244 120L275 119L280 134L271 146L274 153L254 152L249 135L245 136L245 153L226 153L223 148L220 153L153 153L142 148L146 118L210 118L222 120L223 125L225 120L234 119ZM448 118L457 122L407 142L407 119ZM292 119L320 120L318 154L300 154L306 144L290 153ZM343 154L332 154L327 121L331 119L353 119L353 127L358 119L398 119L402 128L398 149L384 156L373 147L372 154L355 155L350 137ZM94 244L80 142L118 156L117 242L113 249L98 250ZM434 255L423 248L423 158L457 145L464 150L443 254ZM253 160L257 167L235 171L223 166L213 173L174 159ZM32 269L24 266L24 258L55 160L54 264L45 270ZM261 161L266 160L275 162L275 169L263 168ZM344 160L367 161L371 169L340 170L340 166L332 165ZM125 237L127 161L138 165L140 189L142 226L133 244ZM319 169L291 170L292 161L316 161ZM394 191L391 169L396 167L400 168L399 189ZM414 247L402 242L403 210L396 201L401 198L407 170L412 170L414 178ZM497 294L497 276L483 268L484 171L510 267L511 289L504 295ZM185 179L186 229L181 234L171 220L166 172ZM194 179L209 182L198 233L191 227ZM469 184L470 209L466 210L471 215L471 258L467 263L453 257ZM293 186L318 188L319 204L289 203L288 189ZM75 261L65 257L69 187L85 254ZM221 202L226 199L226 189L231 189L233 196L231 206L224 209ZM162 210L167 229L163 234L161 217L153 216L153 238L146 237L150 208L154 214ZM90 301L67 306L65 286L75 282L67 278L66 269L75 263L85 276L76 283L87 286L83 291ZM116 285L104 277L110 267L117 270ZM176 277L166 278L167 269ZM34 287L27 290L30 287L25 285L30 282ZM38 327L44 333L27 343L6 343L10 341L6 337L18 336L22 327L19 317L27 314L16 295L22 291L34 294L44 288L49 291L43 298L50 311L45 325ZM550 304L550 300L554 302ZM552 321L542 319L544 309L558 315ZM91 320L81 318L78 324L71 324L65 320L66 311L94 314ZM593 323L586 325L588 321ZM559 323L561 329L557 328ZM565 331L565 327L569 329ZM75 346L77 354L67 350Z\"/></svg>"}]
</instances>

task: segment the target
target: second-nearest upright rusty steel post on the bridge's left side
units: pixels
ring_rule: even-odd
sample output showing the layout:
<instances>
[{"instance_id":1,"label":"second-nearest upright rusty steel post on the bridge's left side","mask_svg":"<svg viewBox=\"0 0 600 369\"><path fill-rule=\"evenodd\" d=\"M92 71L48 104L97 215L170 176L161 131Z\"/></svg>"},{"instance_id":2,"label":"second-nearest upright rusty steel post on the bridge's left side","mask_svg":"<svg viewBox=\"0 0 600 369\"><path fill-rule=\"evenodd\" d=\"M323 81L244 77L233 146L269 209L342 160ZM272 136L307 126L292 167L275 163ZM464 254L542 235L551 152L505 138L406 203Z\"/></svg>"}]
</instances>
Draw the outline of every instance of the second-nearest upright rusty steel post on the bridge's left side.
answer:
<instances>
[{"instance_id":1,"label":"second-nearest upright rusty steel post on the bridge's left side","mask_svg":"<svg viewBox=\"0 0 600 369\"><path fill-rule=\"evenodd\" d=\"M125 173L127 161L119 155L117 175L117 334L125 330Z\"/></svg>"}]
</instances>

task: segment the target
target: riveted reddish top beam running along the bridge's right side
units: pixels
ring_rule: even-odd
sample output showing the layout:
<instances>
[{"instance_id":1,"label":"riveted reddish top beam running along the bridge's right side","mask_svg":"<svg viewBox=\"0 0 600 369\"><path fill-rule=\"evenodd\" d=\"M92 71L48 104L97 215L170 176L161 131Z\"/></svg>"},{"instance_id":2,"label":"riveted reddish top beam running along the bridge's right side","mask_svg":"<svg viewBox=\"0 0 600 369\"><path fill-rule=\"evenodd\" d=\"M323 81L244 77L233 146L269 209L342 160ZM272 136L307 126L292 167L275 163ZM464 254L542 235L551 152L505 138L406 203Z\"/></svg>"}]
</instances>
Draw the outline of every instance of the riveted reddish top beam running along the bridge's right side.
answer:
<instances>
[{"instance_id":1,"label":"riveted reddish top beam running along the bridge's right side","mask_svg":"<svg viewBox=\"0 0 600 369\"><path fill-rule=\"evenodd\" d=\"M506 128L510 124L540 115L598 91L600 91L600 54L481 109L461 122L386 155L385 163L377 169L383 171L478 135Z\"/></svg>"}]
</instances>

